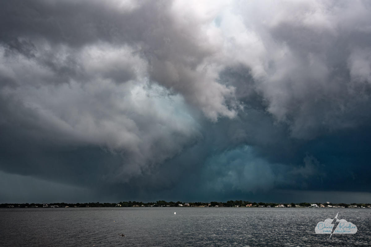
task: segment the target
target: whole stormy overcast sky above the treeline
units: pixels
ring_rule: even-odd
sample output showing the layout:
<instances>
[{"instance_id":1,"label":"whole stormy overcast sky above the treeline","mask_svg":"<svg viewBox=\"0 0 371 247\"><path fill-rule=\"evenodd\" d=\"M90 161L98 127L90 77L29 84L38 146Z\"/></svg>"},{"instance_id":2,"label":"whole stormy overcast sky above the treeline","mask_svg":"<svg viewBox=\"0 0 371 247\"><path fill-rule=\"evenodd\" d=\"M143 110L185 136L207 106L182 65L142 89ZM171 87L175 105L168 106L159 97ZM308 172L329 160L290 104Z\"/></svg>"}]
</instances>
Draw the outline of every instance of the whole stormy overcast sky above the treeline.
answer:
<instances>
[{"instance_id":1,"label":"whole stormy overcast sky above the treeline","mask_svg":"<svg viewBox=\"0 0 371 247\"><path fill-rule=\"evenodd\" d=\"M0 203L371 203L369 1L0 16Z\"/></svg>"}]
</instances>

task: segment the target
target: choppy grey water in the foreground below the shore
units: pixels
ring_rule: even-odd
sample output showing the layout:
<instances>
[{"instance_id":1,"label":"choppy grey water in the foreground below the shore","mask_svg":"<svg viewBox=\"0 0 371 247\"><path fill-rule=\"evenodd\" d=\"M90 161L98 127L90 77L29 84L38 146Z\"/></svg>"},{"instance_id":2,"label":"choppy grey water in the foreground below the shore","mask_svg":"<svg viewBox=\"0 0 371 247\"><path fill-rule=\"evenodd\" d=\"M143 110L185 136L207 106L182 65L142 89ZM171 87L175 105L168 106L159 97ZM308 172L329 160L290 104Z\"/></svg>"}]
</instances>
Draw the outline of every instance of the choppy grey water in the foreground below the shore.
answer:
<instances>
[{"instance_id":1,"label":"choppy grey water in the foreground below the shore","mask_svg":"<svg viewBox=\"0 0 371 247\"><path fill-rule=\"evenodd\" d=\"M344 218L356 234L315 234ZM174 212L177 214L174 215ZM368 208L1 208L0 246L371 246ZM124 233L126 237L118 236Z\"/></svg>"}]
</instances>

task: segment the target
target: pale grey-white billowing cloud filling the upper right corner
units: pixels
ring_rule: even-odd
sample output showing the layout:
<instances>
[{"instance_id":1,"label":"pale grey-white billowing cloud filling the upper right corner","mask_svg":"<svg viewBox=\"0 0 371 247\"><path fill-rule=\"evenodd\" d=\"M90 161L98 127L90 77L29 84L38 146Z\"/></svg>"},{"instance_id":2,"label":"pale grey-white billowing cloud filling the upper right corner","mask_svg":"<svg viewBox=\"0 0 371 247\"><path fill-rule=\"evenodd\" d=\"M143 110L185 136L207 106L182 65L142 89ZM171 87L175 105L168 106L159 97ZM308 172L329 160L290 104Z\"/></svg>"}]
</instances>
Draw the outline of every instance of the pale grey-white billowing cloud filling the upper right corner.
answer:
<instances>
[{"instance_id":1,"label":"pale grey-white billowing cloud filling the upper right corner","mask_svg":"<svg viewBox=\"0 0 371 247\"><path fill-rule=\"evenodd\" d=\"M213 67L249 68L266 110L288 123L293 137L356 127L348 114L363 103L346 74L370 81L370 13L363 1L234 1L212 27L223 40Z\"/></svg>"}]
</instances>

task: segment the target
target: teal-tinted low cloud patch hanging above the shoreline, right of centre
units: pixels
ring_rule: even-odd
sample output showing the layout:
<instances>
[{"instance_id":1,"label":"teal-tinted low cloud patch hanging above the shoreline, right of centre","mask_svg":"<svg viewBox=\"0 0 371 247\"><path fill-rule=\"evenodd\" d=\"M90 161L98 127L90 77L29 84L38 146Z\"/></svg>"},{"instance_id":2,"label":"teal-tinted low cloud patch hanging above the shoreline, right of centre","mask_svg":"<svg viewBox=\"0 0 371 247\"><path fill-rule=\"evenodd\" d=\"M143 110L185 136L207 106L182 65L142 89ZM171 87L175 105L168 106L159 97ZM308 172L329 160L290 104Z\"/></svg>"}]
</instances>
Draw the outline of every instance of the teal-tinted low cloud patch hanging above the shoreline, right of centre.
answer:
<instances>
[{"instance_id":1,"label":"teal-tinted low cloud patch hanging above the shoreline, right of centre","mask_svg":"<svg viewBox=\"0 0 371 247\"><path fill-rule=\"evenodd\" d=\"M314 157L307 155L300 166L271 164L255 157L248 146L209 158L204 172L209 187L220 191L237 189L244 193L266 192L279 187L306 189L306 181L321 183L326 177Z\"/></svg>"}]
</instances>

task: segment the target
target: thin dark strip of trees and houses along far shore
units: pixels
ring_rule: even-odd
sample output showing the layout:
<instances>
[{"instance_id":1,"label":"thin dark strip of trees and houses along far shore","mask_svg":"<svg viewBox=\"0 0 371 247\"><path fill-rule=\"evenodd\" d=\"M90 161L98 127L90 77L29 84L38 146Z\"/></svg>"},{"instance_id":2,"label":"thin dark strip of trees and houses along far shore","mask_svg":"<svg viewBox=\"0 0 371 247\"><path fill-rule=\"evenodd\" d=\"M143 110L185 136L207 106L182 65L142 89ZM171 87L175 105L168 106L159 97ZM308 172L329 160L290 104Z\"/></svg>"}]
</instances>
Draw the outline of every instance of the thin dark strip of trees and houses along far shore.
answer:
<instances>
[{"instance_id":1,"label":"thin dark strip of trees and houses along far shore","mask_svg":"<svg viewBox=\"0 0 371 247\"><path fill-rule=\"evenodd\" d=\"M0 207L7 208L29 208L29 207L341 207L341 208L371 208L370 203L256 203L249 201L227 201L217 202L211 201L210 203L185 203L177 201L156 201L150 203L143 203L139 201L121 201L119 203L3 203Z\"/></svg>"}]
</instances>

